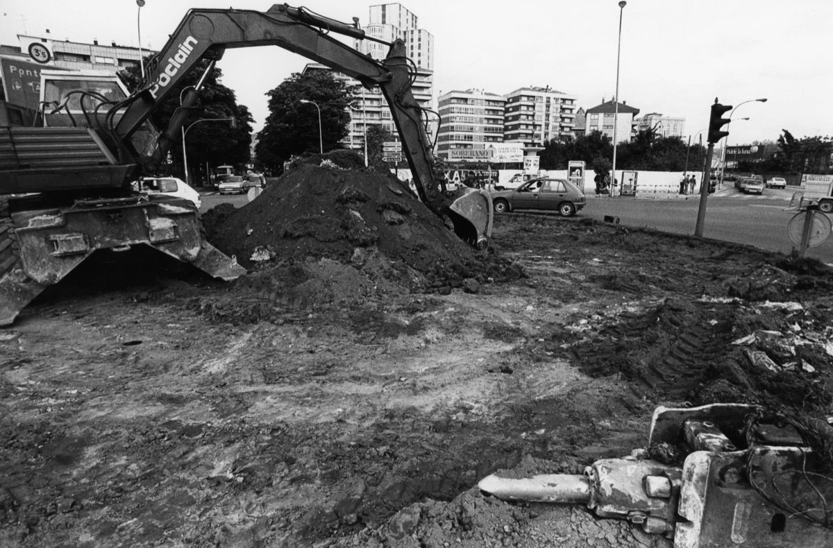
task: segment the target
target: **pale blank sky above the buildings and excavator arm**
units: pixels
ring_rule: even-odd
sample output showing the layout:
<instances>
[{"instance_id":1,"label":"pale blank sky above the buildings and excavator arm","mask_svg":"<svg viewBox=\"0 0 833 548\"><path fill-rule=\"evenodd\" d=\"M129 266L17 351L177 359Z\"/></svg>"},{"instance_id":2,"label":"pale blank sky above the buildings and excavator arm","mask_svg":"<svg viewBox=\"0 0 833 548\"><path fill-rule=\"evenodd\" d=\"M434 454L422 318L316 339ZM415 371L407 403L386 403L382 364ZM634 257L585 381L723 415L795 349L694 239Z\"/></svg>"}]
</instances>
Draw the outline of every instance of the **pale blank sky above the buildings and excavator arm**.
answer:
<instances>
[{"instance_id":1,"label":"pale blank sky above the buildings and excavator arm","mask_svg":"<svg viewBox=\"0 0 833 548\"><path fill-rule=\"evenodd\" d=\"M344 22L358 17L362 26L371 5L386 3L305 1L290 5ZM141 32L142 47L158 50L188 9L266 11L272 3L146 0L139 8L135 0L4 0L0 43L17 45L17 33L42 36L48 28L57 40L136 47ZM799 138L833 134L830 0L628 0L624 8L616 0L399 3L434 35L435 98L550 86L586 110L615 95L621 47L620 100L639 116L686 118L692 142L699 134L705 141L716 97L737 107L730 146L774 141L783 129ZM250 47L228 50L217 67L257 131L268 114L265 94L307 62L278 47Z\"/></svg>"}]
</instances>

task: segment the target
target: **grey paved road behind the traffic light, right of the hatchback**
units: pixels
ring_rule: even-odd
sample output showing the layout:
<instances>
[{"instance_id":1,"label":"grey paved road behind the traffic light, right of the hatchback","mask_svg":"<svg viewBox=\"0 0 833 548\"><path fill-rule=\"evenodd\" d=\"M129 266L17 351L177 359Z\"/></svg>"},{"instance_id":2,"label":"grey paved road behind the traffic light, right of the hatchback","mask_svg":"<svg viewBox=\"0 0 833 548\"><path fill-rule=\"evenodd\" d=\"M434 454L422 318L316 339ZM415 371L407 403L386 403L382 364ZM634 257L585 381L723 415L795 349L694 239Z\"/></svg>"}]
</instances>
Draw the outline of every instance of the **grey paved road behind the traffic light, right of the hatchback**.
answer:
<instances>
[{"instance_id":1,"label":"grey paved road behind the traffic light, right of the hatchback","mask_svg":"<svg viewBox=\"0 0 833 548\"><path fill-rule=\"evenodd\" d=\"M764 196L758 197L731 189L709 197L703 236L782 253L797 249L798 245L792 242L786 228L796 215L795 209L789 209L792 191L768 188L764 192ZM693 235L699 205L699 196L671 200L588 197L581 216L600 221L605 216L619 217L621 224L626 226ZM808 249L806 257L833 264L833 237L819 247Z\"/></svg>"}]
</instances>

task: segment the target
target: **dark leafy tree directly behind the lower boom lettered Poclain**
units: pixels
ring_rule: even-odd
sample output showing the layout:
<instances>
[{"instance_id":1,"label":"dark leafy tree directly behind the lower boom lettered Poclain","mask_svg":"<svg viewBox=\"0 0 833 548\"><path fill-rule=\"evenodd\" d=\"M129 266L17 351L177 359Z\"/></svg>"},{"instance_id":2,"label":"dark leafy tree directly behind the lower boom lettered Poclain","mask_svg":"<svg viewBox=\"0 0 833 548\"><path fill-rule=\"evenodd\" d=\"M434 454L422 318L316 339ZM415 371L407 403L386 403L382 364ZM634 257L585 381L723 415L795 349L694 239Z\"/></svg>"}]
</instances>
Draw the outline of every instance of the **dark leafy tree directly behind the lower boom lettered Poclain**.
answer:
<instances>
[{"instance_id":1,"label":"dark leafy tree directly behind the lower boom lettered Poclain","mask_svg":"<svg viewBox=\"0 0 833 548\"><path fill-rule=\"evenodd\" d=\"M203 60L195 70L188 72L172 87L162 102L151 112L150 120L157 129L164 130L171 121L174 111L179 107L179 98L182 90L197 84L202 73L208 66ZM133 92L142 83L138 67L130 67L127 74L122 74L126 81L127 88ZM196 106L187 117L183 127L189 127L193 122L200 119L228 118L234 117L237 127L230 127L230 123L224 122L200 122L191 127L187 132L187 157L188 172L192 180L207 180L205 173L206 163L211 167L222 164L242 165L249 162L252 145L252 113L245 105L237 104L237 97L232 89L225 87L219 82L222 72L214 67L208 73L200 88ZM179 133L182 135L182 132ZM176 161L176 168L172 172L182 173L182 144L172 147L172 156ZM201 176L195 177L195 174Z\"/></svg>"}]
</instances>

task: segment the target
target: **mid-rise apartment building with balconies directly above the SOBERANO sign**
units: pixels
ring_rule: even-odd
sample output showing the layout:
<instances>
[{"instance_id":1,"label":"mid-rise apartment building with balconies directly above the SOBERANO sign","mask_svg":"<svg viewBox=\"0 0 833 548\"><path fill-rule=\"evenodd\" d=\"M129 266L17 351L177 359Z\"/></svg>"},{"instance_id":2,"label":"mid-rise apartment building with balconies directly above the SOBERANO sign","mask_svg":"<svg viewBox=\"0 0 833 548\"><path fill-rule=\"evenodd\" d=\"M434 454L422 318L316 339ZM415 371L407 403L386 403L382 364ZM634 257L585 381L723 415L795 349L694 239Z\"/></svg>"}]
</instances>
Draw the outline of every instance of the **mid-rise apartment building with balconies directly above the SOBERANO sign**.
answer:
<instances>
[{"instance_id":1,"label":"mid-rise apartment building with balconies directly above the SOBERANO sign","mask_svg":"<svg viewBox=\"0 0 833 548\"><path fill-rule=\"evenodd\" d=\"M503 142L506 97L481 89L440 96L436 156L446 161L488 160L487 146Z\"/></svg>"}]
</instances>

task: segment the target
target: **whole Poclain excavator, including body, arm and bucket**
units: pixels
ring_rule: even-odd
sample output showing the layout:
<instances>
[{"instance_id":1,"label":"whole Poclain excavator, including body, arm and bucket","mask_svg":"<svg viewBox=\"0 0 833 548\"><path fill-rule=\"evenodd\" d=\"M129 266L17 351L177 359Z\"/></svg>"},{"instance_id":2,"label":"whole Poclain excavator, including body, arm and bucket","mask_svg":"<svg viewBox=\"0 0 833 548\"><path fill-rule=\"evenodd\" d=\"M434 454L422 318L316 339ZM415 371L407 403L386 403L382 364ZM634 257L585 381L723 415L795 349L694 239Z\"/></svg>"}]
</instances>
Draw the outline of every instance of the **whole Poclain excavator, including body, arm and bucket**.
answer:
<instances>
[{"instance_id":1,"label":"whole Poclain excavator, including body, arm and bucket","mask_svg":"<svg viewBox=\"0 0 833 548\"><path fill-rule=\"evenodd\" d=\"M485 248L491 198L483 191L446 188L424 109L412 95L416 67L404 42L382 42L390 49L377 61L330 36L333 32L382 42L367 37L355 18L348 24L287 4L266 12L192 9L147 63L137 92L115 97L112 89L103 92L78 77L79 88L56 104L42 86L41 112L33 117L40 127L0 127L0 326L11 324L35 296L97 250L146 245L224 280L245 272L205 240L198 213L187 202L141 196L130 184L157 172L207 73L233 47L282 47L368 89L379 87L421 202L465 242ZM206 72L187 88L167 128L157 132L148 117L202 60L208 61Z\"/></svg>"}]
</instances>

